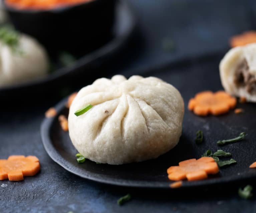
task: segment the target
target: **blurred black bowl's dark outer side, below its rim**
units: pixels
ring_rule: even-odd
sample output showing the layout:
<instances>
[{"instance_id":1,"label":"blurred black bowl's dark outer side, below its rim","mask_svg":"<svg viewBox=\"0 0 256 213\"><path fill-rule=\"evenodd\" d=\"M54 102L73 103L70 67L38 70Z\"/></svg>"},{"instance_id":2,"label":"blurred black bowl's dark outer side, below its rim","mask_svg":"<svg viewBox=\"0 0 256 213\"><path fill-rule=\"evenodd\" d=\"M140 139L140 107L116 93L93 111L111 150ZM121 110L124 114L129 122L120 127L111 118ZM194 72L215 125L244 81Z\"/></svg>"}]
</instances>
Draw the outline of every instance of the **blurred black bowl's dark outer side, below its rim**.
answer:
<instances>
[{"instance_id":1,"label":"blurred black bowl's dark outer side, below its rim","mask_svg":"<svg viewBox=\"0 0 256 213\"><path fill-rule=\"evenodd\" d=\"M51 10L22 10L5 3L14 27L36 38L51 57L59 51L81 56L112 37L116 0L93 0Z\"/></svg>"}]
</instances>

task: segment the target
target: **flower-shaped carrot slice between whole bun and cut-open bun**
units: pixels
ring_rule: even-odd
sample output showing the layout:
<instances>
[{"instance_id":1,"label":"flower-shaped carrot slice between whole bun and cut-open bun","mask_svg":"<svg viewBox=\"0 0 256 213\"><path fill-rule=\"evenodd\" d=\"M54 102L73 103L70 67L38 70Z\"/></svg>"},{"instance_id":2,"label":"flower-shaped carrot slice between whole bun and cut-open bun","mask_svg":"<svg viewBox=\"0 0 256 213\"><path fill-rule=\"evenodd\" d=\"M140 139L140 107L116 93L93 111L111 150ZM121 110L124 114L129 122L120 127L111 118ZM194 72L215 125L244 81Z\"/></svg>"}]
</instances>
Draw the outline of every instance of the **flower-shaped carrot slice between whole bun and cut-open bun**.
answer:
<instances>
[{"instance_id":1,"label":"flower-shaped carrot slice between whole bun and cut-open bun","mask_svg":"<svg viewBox=\"0 0 256 213\"><path fill-rule=\"evenodd\" d=\"M236 106L236 98L224 91L213 93L204 91L191 98L188 109L196 115L206 116L208 114L221 115L227 113Z\"/></svg>"}]
</instances>

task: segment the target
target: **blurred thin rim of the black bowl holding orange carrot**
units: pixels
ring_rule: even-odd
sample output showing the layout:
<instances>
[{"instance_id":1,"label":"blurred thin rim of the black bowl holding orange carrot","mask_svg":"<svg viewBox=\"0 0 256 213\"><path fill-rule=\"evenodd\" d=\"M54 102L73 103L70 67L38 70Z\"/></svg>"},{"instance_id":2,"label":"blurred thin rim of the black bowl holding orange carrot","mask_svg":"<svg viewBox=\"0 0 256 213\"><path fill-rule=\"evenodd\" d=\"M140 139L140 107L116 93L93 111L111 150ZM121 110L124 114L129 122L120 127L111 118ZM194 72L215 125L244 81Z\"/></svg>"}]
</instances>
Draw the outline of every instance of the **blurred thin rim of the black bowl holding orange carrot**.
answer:
<instances>
[{"instance_id":1,"label":"blurred thin rim of the black bowl holding orange carrot","mask_svg":"<svg viewBox=\"0 0 256 213\"><path fill-rule=\"evenodd\" d=\"M11 6L6 3L6 0L2 0L4 8L7 10L7 12L16 12L16 13L29 13L29 14L35 14L35 13L61 13L66 12L68 10L71 10L73 8L81 7L81 6L90 6L93 4L98 4L99 2L103 2L105 0L90 0L87 2L80 2L76 4L66 5L66 6L57 6L51 9L18 9L14 6ZM113 0L114 2L116 0Z\"/></svg>"}]
</instances>

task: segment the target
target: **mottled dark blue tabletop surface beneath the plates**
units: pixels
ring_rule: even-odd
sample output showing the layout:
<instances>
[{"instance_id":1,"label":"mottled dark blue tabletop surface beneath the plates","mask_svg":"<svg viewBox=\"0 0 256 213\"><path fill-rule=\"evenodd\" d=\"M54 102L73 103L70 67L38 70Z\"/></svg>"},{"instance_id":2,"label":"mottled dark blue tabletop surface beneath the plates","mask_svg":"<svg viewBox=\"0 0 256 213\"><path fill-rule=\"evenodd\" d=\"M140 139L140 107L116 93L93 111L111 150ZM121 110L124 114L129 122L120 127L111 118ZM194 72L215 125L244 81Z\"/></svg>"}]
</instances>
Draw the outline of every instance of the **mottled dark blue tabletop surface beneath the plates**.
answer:
<instances>
[{"instance_id":1,"label":"mottled dark blue tabletop surface beneath the plates","mask_svg":"<svg viewBox=\"0 0 256 213\"><path fill-rule=\"evenodd\" d=\"M231 35L255 28L253 1L129 2L139 17L138 37L123 54L125 57L102 65L101 76L142 74L144 68L183 58L224 53ZM174 41L175 51L166 52L162 48L164 38ZM88 79L84 84L91 82ZM11 154L36 155L42 169L35 177L26 177L21 182L0 182L0 212L256 212L255 196L242 200L237 195L238 187L253 180L170 192L112 187L70 174L49 158L39 133L44 112L60 99L60 96L40 97L32 105L14 100L15 106L8 107L1 101L0 158ZM133 199L118 206L117 199L128 192Z\"/></svg>"}]
</instances>

